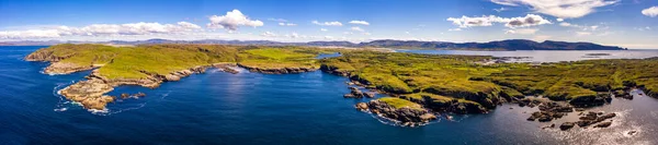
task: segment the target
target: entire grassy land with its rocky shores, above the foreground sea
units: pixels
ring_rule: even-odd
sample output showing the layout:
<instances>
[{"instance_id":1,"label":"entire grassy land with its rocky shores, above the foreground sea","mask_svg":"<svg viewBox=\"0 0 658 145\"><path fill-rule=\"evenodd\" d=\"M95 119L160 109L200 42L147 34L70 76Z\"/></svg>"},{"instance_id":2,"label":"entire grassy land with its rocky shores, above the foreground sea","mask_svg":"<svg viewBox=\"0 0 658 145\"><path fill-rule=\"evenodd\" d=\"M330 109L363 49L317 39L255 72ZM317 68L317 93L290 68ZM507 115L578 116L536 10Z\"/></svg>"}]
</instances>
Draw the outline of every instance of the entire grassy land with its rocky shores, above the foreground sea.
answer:
<instances>
[{"instance_id":1,"label":"entire grassy land with its rocky shores, above the foreground sea","mask_svg":"<svg viewBox=\"0 0 658 145\"><path fill-rule=\"evenodd\" d=\"M340 57L316 59L320 53ZM157 88L208 68L237 73L235 68L268 74L320 70L351 80L350 84L388 97L360 102L355 108L401 125L420 125L440 113L487 113L501 104L538 107L529 121L552 121L566 113L605 105L611 97L632 99L642 89L658 97L658 58L587 60L559 63L490 63L487 56L445 56L300 46L227 45L56 45L25 58L47 61L48 74L90 71L87 80L58 90L87 109L103 110L117 99L114 87ZM373 97L358 88L343 97ZM144 96L144 95L139 95ZM122 95L123 97L123 95ZM339 98L340 96L337 96ZM612 114L583 113L574 124L604 128ZM561 126L560 126L561 128Z\"/></svg>"}]
</instances>

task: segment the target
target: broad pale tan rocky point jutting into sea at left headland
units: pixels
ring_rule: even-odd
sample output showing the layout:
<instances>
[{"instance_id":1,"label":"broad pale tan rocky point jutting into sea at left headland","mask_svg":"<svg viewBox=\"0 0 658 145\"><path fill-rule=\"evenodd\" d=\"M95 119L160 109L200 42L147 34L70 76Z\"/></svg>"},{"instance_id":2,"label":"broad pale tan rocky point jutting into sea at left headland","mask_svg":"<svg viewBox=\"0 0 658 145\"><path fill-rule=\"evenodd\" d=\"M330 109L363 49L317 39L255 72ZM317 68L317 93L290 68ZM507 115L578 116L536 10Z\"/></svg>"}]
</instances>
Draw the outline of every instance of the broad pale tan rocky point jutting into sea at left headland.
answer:
<instances>
[{"instance_id":1,"label":"broad pale tan rocky point jutting into sea at left headland","mask_svg":"<svg viewBox=\"0 0 658 145\"><path fill-rule=\"evenodd\" d=\"M114 97L104 95L113 89L113 86L105 84L102 80L93 78L80 81L58 93L67 99L82 104L87 109L103 110L109 102L114 101Z\"/></svg>"}]
</instances>

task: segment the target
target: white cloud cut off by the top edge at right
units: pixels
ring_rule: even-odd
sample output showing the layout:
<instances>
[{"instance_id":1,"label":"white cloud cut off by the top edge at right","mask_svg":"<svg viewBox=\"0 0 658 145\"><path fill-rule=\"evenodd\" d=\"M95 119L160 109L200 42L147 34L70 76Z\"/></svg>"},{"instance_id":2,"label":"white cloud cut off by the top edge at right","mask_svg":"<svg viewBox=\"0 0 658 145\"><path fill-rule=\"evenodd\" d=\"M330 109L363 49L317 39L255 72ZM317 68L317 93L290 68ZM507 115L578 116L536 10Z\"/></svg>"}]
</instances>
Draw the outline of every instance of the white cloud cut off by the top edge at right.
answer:
<instances>
[{"instance_id":1,"label":"white cloud cut off by the top edge at right","mask_svg":"<svg viewBox=\"0 0 658 145\"><path fill-rule=\"evenodd\" d=\"M560 19L577 19L595 12L595 8L614 4L620 0L491 0L494 3L529 5L538 13Z\"/></svg>"}]
</instances>

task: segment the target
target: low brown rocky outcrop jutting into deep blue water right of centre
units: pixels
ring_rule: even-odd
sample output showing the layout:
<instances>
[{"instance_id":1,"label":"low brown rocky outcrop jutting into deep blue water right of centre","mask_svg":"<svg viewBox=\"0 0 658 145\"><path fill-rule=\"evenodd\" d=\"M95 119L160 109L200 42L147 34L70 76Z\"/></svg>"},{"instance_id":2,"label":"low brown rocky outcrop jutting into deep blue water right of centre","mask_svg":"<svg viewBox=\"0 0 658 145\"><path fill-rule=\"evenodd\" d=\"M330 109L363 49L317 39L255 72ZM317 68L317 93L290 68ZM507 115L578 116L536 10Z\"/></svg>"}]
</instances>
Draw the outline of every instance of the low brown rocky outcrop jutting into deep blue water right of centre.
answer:
<instances>
[{"instance_id":1,"label":"low brown rocky outcrop jutting into deep blue water right of centre","mask_svg":"<svg viewBox=\"0 0 658 145\"><path fill-rule=\"evenodd\" d=\"M395 108L379 100L371 100L367 102L367 107L371 112L379 117L399 121L401 125L415 126L436 119L436 116L424 109L409 107Z\"/></svg>"}]
</instances>

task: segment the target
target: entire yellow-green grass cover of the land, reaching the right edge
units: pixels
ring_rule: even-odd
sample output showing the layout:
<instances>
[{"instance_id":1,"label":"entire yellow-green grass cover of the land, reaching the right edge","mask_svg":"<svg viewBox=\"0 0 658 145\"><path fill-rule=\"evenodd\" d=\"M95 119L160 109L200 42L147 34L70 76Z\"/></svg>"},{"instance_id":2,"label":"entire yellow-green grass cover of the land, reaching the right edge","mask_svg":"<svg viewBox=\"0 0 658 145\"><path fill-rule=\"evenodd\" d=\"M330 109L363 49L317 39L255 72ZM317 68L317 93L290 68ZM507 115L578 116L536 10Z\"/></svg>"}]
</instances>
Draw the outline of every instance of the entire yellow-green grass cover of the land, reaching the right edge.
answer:
<instances>
[{"instance_id":1,"label":"entire yellow-green grass cover of the land, reaching the right edge","mask_svg":"<svg viewBox=\"0 0 658 145\"><path fill-rule=\"evenodd\" d=\"M317 60L326 52L341 57ZM344 72L352 80L410 100L473 104L495 108L504 99L542 95L554 100L575 100L628 87L658 92L658 58L645 60L589 60L530 65L483 63L483 56L436 56L306 47L222 45L57 45L37 50L61 62L99 65L109 78L144 78L146 73L168 74L197 65L237 62L263 69L319 68ZM409 106L412 101L385 98ZM416 104L415 104L416 105Z\"/></svg>"}]
</instances>

